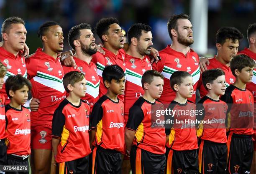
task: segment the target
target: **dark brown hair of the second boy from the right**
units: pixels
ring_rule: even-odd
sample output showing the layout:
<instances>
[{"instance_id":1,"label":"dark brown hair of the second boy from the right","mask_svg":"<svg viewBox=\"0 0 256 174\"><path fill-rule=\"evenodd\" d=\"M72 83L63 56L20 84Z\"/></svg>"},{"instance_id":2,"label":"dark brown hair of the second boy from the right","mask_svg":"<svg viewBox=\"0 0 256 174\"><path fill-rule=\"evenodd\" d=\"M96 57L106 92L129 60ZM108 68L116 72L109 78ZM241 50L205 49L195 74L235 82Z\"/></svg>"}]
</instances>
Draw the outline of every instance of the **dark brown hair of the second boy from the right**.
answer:
<instances>
[{"instance_id":1,"label":"dark brown hair of the second boy from the right","mask_svg":"<svg viewBox=\"0 0 256 174\"><path fill-rule=\"evenodd\" d=\"M203 85L204 85L205 89L208 90L208 88L206 87L207 83L212 84L213 81L215 81L219 76L223 76L223 75L225 76L225 73L220 68L204 71L202 73L202 81L203 81Z\"/></svg>"}]
</instances>

